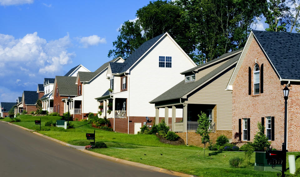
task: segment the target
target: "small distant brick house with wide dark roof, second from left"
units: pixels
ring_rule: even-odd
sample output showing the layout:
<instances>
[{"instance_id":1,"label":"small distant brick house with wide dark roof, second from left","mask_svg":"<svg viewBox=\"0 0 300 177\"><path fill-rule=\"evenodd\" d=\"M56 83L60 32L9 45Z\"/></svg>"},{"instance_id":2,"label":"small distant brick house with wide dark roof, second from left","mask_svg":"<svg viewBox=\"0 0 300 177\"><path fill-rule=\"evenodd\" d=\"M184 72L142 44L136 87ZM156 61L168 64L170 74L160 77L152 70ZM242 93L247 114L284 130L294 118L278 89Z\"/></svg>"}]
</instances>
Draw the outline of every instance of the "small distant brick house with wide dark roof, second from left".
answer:
<instances>
[{"instance_id":1,"label":"small distant brick house with wide dark roof, second from left","mask_svg":"<svg viewBox=\"0 0 300 177\"><path fill-rule=\"evenodd\" d=\"M27 113L37 111L36 105L38 99L38 93L36 91L24 91L22 94L23 110L27 111Z\"/></svg>"}]
</instances>

